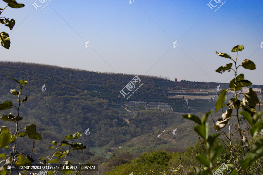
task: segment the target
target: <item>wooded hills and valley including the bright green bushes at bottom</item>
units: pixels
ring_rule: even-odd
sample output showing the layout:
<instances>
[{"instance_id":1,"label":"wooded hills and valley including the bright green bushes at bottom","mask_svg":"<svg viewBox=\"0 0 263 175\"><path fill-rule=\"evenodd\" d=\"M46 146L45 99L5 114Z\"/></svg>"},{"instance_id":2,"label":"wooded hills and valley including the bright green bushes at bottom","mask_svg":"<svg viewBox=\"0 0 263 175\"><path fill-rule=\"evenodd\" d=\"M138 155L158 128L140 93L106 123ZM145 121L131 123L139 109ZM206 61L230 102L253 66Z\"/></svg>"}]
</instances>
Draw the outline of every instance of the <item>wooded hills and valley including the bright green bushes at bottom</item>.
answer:
<instances>
[{"instance_id":1,"label":"wooded hills and valley including the bright green bushes at bottom","mask_svg":"<svg viewBox=\"0 0 263 175\"><path fill-rule=\"evenodd\" d=\"M144 109L130 114L122 107L124 98L121 97L120 90L135 75L89 72L21 62L0 62L0 67L1 102L17 102L10 93L10 89L18 88L17 84L8 76L27 81L21 94L27 95L27 100L19 111L19 116L24 119L20 121L20 125L36 125L36 132L42 136L42 140L35 140L32 151L33 143L30 138L18 138L17 149L26 155L30 155L32 151L34 163L38 163L43 155L53 154L53 151L47 148L52 146L51 141L61 142L63 137L81 132L82 136L78 140L86 149L83 147L68 155L72 164L98 164L104 174L185 174L190 169L196 170L193 165L202 170L195 155L201 155L200 142L204 141L198 139L198 134L193 131L195 124L181 115L191 112L201 117L204 112L213 110L207 123L210 132L215 133L213 123L221 114L215 113L215 101L212 99L188 100L188 103L184 98L169 99L165 82L171 84L171 81L139 75L144 84L129 100L165 102L171 105L173 110ZM186 86L191 86L187 83L184 82ZM46 90L42 92L44 84ZM198 85L201 86L202 83ZM226 106L222 107L222 110L226 109ZM256 109L259 109L259 106ZM16 112L14 108L8 111L12 114ZM1 116L6 114L4 112L1 111ZM0 122L1 125L8 125L10 132L15 132L14 123L4 120ZM238 125L235 119L231 119L231 122ZM240 125L246 127L245 122ZM86 136L84 132L88 128L90 134ZM172 136L175 128L180 134ZM165 132L158 138L163 130ZM228 129L222 128L222 131L227 132ZM232 137L238 139L236 135ZM235 149L240 149L238 140L233 140L232 144L236 144ZM213 148L217 145L224 145L224 141L217 138ZM110 158L106 158L105 154L89 151L89 147L94 146L103 147L104 153L110 152ZM225 146L224 149L229 147ZM7 150L1 148L1 152L7 153ZM227 162L228 157L229 152L224 152L216 164L219 166L222 162Z\"/></svg>"}]
</instances>

